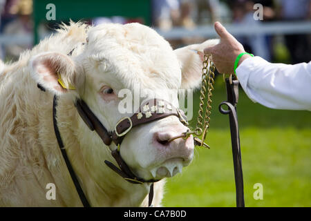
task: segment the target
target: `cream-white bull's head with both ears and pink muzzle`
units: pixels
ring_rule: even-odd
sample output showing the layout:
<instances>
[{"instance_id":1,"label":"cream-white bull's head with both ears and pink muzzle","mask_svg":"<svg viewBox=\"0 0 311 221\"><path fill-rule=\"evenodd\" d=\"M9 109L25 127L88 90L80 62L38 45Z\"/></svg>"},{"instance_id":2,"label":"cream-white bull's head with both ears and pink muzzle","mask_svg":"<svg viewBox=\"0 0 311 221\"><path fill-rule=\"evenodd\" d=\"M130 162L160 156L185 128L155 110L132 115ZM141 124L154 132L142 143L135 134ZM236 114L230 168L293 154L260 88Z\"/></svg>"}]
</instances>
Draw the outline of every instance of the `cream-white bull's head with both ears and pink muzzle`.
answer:
<instances>
[{"instance_id":1,"label":"cream-white bull's head with both ears and pink muzzle","mask_svg":"<svg viewBox=\"0 0 311 221\"><path fill-rule=\"evenodd\" d=\"M133 115L134 107L147 99L164 99L178 107L178 95L171 91L200 86L202 50L217 43L206 41L173 50L154 30L138 23L96 26L89 28L87 35L86 44L79 46L73 56L45 52L32 58L30 67L37 82L51 92L84 99L108 131L113 131L122 117ZM75 90L66 89L70 87ZM120 111L124 97L118 95L124 88L133 96L140 95L131 100L131 113ZM104 160L111 159L109 148L82 119L77 120L75 133L88 172L100 184L100 179L105 179L100 173L107 170ZM171 177L194 157L192 136L168 142L187 129L176 116L142 124L124 137L120 155L131 171L144 180ZM116 147L112 144L110 148Z\"/></svg>"}]
</instances>

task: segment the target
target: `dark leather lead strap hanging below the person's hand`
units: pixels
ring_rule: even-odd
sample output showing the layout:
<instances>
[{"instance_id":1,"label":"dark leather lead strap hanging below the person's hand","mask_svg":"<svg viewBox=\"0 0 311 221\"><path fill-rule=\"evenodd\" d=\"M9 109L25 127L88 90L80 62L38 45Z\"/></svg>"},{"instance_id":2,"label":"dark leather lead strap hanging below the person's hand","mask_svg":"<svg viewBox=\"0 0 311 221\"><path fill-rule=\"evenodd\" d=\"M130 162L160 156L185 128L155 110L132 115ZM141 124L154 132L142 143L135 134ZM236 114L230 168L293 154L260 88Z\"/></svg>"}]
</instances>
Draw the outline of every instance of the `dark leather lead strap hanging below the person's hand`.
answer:
<instances>
[{"instance_id":1,"label":"dark leather lead strap hanging below the person's hand","mask_svg":"<svg viewBox=\"0 0 311 221\"><path fill-rule=\"evenodd\" d=\"M236 206L244 207L244 187L243 187L243 170L241 160L240 135L238 133L238 116L236 106L238 104L238 80L233 80L230 84L226 79L227 102L219 105L219 111L223 114L229 114L229 124L232 142L232 155L234 161L234 179L236 182ZM222 108L223 105L228 107L228 111Z\"/></svg>"}]
</instances>

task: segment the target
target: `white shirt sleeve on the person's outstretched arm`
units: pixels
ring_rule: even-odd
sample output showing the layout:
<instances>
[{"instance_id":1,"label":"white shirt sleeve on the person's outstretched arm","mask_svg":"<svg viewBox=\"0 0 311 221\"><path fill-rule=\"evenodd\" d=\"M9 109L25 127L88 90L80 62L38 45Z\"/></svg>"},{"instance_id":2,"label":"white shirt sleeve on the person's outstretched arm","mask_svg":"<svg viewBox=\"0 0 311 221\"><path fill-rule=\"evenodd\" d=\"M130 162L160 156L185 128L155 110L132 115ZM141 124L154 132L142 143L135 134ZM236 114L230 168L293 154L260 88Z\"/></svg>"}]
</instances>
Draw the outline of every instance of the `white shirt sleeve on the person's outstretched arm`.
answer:
<instances>
[{"instance_id":1,"label":"white shirt sleeve on the person's outstretched arm","mask_svg":"<svg viewBox=\"0 0 311 221\"><path fill-rule=\"evenodd\" d=\"M269 108L311 111L311 61L272 64L249 57L236 68L247 96Z\"/></svg>"}]
</instances>

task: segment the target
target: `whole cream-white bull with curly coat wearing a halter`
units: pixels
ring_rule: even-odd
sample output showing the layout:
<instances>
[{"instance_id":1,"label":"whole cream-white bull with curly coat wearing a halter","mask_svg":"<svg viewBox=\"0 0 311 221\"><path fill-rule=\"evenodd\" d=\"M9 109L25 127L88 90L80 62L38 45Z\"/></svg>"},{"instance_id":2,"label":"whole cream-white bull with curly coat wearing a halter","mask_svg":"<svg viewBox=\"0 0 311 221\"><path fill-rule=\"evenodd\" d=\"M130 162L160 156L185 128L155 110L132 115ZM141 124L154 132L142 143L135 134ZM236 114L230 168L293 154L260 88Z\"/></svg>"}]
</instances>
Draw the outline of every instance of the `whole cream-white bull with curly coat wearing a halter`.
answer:
<instances>
[{"instance_id":1,"label":"whole cream-white bull with curly coat wearing a halter","mask_svg":"<svg viewBox=\"0 0 311 221\"><path fill-rule=\"evenodd\" d=\"M172 50L154 30L138 23L71 23L23 52L19 61L1 64L0 205L82 206L53 130L56 94L59 132L91 206L147 206L150 184L130 184L104 164L115 163L109 149L115 146L104 145L88 129L74 101L84 99L112 131L126 115L118 111L122 88L133 91L139 86L153 91L144 99L156 95L169 100L170 89L198 87L200 51L216 43ZM59 78L75 90L63 88ZM46 92L37 88L38 83ZM178 106L177 95L171 102ZM192 137L163 142L185 131L175 116L137 126L124 138L120 154L138 177L170 177L191 162L194 142ZM47 184L55 184L55 200L46 198ZM163 186L163 180L155 183L154 206L161 204Z\"/></svg>"}]
</instances>

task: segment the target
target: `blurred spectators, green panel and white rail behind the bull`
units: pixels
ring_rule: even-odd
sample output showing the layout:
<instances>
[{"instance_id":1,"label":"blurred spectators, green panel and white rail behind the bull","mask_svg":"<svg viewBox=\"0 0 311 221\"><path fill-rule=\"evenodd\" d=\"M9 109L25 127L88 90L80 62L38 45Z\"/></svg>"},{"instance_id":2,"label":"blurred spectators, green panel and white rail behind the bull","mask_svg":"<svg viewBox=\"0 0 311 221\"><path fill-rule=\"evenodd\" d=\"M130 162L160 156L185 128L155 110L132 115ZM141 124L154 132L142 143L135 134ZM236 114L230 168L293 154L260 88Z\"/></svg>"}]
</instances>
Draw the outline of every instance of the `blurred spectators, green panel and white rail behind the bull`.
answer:
<instances>
[{"instance_id":1,"label":"blurred spectators, green panel and white rail behind the bull","mask_svg":"<svg viewBox=\"0 0 311 221\"><path fill-rule=\"evenodd\" d=\"M49 3L55 5L50 21ZM254 19L256 3L263 6L262 20ZM0 0L0 11L2 60L16 60L69 19L94 25L144 23L173 48L216 37L212 24L222 21L248 52L268 61L296 64L311 59L310 0Z\"/></svg>"}]
</instances>

